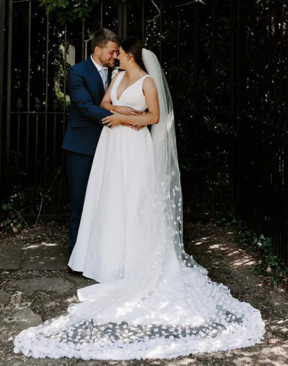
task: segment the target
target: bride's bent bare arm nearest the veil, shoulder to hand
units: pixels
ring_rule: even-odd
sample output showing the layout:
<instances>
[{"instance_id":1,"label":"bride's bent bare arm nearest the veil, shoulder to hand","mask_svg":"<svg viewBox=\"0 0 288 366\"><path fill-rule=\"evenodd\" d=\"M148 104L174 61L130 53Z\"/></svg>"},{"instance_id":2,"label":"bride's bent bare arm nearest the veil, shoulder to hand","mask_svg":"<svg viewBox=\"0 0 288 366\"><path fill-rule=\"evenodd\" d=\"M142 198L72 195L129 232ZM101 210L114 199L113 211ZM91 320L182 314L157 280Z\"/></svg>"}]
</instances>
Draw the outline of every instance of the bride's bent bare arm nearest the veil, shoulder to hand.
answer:
<instances>
[{"instance_id":1,"label":"bride's bent bare arm nearest the veil, shoulder to hand","mask_svg":"<svg viewBox=\"0 0 288 366\"><path fill-rule=\"evenodd\" d=\"M149 112L141 115L121 115L117 111L110 109L112 116L103 118L103 123L109 123L109 126L117 126L128 123L134 126L154 125L159 122L160 109L156 85L151 77L146 77L143 82L143 93ZM116 114L115 114L116 113Z\"/></svg>"}]
</instances>

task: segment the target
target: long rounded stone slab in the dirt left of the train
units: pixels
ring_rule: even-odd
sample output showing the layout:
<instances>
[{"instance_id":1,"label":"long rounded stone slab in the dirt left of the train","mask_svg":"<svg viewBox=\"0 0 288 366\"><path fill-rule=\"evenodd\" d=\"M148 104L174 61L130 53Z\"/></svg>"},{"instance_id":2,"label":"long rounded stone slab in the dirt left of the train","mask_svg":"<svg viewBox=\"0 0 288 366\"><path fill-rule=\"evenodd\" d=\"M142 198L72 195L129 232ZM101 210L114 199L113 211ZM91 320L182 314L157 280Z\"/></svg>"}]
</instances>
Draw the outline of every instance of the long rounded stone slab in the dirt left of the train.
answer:
<instances>
[{"instance_id":1,"label":"long rounded stone slab in the dirt left of the train","mask_svg":"<svg viewBox=\"0 0 288 366\"><path fill-rule=\"evenodd\" d=\"M62 294L71 289L72 284L67 280L60 278L27 278L25 280L10 281L5 286L5 290L20 290L20 291L54 291ZM1 295L1 290L0 290ZM8 295L8 294L7 294ZM1 298L0 298L1 299Z\"/></svg>"}]
</instances>

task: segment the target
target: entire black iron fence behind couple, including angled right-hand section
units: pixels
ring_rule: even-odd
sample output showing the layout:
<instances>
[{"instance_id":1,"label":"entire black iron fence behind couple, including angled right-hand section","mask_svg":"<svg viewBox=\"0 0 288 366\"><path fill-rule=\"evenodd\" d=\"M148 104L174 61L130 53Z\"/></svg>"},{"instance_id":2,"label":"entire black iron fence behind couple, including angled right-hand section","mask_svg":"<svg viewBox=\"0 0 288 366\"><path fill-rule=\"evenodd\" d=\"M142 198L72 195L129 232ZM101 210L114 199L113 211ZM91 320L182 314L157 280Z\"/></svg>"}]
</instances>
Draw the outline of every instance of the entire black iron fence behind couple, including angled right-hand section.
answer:
<instances>
[{"instance_id":1,"label":"entire black iron fence behind couple, including angled right-hand section","mask_svg":"<svg viewBox=\"0 0 288 366\"><path fill-rule=\"evenodd\" d=\"M205 3L102 0L85 23L62 26L37 1L0 1L0 200L26 216L67 214L66 71L105 27L160 59L186 211L216 216L236 203L287 262L288 1Z\"/></svg>"}]
</instances>

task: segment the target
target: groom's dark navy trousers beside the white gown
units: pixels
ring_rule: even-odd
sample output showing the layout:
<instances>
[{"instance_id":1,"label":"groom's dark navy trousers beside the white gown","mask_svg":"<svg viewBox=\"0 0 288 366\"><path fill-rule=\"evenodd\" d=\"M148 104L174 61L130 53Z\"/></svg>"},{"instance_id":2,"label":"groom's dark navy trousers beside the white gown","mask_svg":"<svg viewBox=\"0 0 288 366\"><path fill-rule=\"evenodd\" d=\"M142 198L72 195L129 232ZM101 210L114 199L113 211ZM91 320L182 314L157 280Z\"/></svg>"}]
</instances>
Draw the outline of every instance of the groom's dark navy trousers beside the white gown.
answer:
<instances>
[{"instance_id":1,"label":"groom's dark navy trousers beside the white gown","mask_svg":"<svg viewBox=\"0 0 288 366\"><path fill-rule=\"evenodd\" d=\"M70 185L70 222L68 242L72 253L79 230L85 193L94 156L66 150L66 166Z\"/></svg>"}]
</instances>

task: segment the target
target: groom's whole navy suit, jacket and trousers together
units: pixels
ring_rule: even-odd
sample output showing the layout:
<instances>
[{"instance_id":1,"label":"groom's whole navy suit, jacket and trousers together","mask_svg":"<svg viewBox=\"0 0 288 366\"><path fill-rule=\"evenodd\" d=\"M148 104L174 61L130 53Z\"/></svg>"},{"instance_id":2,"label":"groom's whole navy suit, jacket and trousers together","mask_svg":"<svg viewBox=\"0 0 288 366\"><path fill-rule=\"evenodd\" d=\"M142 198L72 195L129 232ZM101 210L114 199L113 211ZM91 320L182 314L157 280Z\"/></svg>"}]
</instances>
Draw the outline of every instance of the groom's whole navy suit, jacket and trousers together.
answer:
<instances>
[{"instance_id":1,"label":"groom's whole navy suit, jacket and trousers together","mask_svg":"<svg viewBox=\"0 0 288 366\"><path fill-rule=\"evenodd\" d=\"M108 72L108 83L111 74ZM99 107L104 86L91 57L68 69L68 92L71 108L62 148L66 150L70 185L70 253L76 243L85 193L97 143L103 128L102 118L111 113Z\"/></svg>"}]
</instances>

